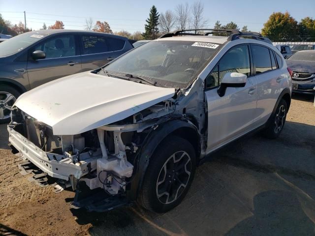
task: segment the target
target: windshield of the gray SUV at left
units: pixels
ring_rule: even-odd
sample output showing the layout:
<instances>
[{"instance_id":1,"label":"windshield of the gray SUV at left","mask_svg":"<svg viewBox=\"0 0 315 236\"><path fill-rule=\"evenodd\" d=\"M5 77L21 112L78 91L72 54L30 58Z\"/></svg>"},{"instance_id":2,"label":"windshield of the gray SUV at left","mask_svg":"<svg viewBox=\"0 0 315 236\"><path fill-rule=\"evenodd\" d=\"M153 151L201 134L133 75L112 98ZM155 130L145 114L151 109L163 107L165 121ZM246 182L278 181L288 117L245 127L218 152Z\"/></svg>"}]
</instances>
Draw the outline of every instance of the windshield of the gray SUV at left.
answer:
<instances>
[{"instance_id":1,"label":"windshield of the gray SUV at left","mask_svg":"<svg viewBox=\"0 0 315 236\"><path fill-rule=\"evenodd\" d=\"M6 57L20 52L21 50L32 45L34 42L37 42L44 36L44 34L31 31L7 39L0 44L0 57Z\"/></svg>"}]
</instances>

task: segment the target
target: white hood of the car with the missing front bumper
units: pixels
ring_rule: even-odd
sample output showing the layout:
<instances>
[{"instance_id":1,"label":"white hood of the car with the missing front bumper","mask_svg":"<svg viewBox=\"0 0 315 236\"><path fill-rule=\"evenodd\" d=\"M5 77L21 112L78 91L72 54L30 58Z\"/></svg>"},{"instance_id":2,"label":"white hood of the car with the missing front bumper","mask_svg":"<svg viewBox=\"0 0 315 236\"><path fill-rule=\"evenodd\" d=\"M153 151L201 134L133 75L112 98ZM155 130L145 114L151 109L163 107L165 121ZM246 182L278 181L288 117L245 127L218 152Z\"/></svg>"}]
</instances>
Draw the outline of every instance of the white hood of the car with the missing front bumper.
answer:
<instances>
[{"instance_id":1,"label":"white hood of the car with the missing front bumper","mask_svg":"<svg viewBox=\"0 0 315 236\"><path fill-rule=\"evenodd\" d=\"M127 118L174 93L175 89L83 72L32 89L15 106L51 126L55 135L74 135Z\"/></svg>"}]
</instances>

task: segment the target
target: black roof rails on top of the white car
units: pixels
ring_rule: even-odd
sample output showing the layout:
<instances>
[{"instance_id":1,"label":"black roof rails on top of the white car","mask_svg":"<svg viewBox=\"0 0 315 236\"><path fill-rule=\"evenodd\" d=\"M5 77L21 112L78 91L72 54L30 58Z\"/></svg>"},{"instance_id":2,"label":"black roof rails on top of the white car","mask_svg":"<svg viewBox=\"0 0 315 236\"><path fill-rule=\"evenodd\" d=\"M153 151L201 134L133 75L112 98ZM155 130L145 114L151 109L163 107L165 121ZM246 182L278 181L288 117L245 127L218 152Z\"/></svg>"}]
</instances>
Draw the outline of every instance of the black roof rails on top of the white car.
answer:
<instances>
[{"instance_id":1,"label":"black roof rails on top of the white car","mask_svg":"<svg viewBox=\"0 0 315 236\"><path fill-rule=\"evenodd\" d=\"M205 32L204 34L197 33L197 31L209 31ZM195 33L187 33L187 31L195 31ZM159 38L167 38L167 37L173 37L173 36L179 36L179 35L209 35L213 33L230 33L229 37L227 38L228 41L233 41L235 39L239 38L251 38L256 39L260 41L264 41L266 43L272 44L271 40L269 38L266 38L262 36L258 32L242 32L236 29L183 29L183 30L176 30L171 33L166 33Z\"/></svg>"}]
</instances>

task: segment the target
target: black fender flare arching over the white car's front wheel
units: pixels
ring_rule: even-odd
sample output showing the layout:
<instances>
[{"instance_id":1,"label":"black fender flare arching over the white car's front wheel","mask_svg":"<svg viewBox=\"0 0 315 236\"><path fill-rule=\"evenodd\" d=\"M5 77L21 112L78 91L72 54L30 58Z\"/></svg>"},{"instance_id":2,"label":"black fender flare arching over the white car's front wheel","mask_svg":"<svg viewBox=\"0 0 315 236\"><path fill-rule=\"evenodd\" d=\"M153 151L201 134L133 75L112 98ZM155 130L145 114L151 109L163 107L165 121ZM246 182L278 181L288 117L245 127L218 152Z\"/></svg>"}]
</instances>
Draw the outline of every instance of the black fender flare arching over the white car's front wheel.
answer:
<instances>
[{"instance_id":1,"label":"black fender flare arching over the white car's front wheel","mask_svg":"<svg viewBox=\"0 0 315 236\"><path fill-rule=\"evenodd\" d=\"M150 163L150 158L158 145L168 135L182 128L189 129L189 131L191 130L195 135L197 135L197 137L199 137L200 140L200 135L196 126L186 119L171 119L165 121L159 124L156 129L148 134L148 137L139 152L139 160L137 164L138 167L130 182L130 189L126 189L126 195L129 201L135 201L137 199L139 191L142 187L146 170Z\"/></svg>"}]
</instances>

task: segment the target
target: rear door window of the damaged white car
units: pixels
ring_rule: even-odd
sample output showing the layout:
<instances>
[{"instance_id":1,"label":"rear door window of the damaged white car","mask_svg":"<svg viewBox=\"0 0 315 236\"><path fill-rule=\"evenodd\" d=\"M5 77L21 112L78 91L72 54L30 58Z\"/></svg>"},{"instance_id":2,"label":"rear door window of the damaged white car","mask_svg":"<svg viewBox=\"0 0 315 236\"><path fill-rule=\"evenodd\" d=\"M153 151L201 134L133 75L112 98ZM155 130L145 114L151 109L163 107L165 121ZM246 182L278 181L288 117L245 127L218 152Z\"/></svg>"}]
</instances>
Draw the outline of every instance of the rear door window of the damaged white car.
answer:
<instances>
[{"instance_id":1,"label":"rear door window of the damaged white car","mask_svg":"<svg viewBox=\"0 0 315 236\"><path fill-rule=\"evenodd\" d=\"M272 70L269 49L258 45L252 45L251 48L256 74Z\"/></svg>"}]
</instances>

